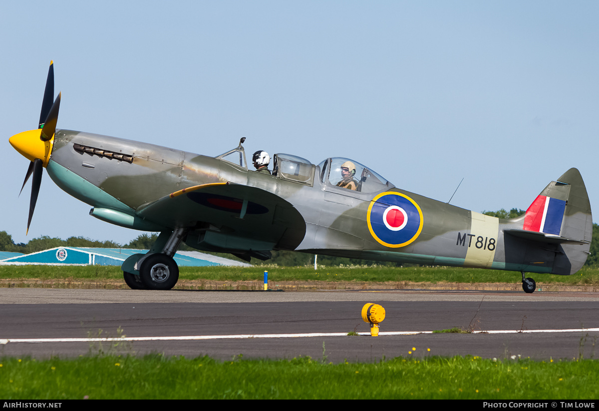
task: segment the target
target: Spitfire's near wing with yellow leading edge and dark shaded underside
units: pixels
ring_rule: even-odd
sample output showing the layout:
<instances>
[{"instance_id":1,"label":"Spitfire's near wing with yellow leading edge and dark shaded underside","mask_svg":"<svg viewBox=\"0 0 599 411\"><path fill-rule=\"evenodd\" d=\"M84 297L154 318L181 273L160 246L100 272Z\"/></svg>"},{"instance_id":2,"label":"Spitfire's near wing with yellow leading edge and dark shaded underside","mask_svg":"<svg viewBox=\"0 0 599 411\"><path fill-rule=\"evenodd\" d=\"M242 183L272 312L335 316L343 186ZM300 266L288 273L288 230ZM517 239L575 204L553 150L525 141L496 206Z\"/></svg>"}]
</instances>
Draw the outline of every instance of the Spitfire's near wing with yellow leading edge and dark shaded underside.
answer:
<instances>
[{"instance_id":1,"label":"Spitfire's near wing with yellow leading edge and dark shaded underside","mask_svg":"<svg viewBox=\"0 0 599 411\"><path fill-rule=\"evenodd\" d=\"M166 227L217 231L280 249L295 249L305 235L305 221L291 203L235 183L186 188L140 208L137 214Z\"/></svg>"}]
</instances>

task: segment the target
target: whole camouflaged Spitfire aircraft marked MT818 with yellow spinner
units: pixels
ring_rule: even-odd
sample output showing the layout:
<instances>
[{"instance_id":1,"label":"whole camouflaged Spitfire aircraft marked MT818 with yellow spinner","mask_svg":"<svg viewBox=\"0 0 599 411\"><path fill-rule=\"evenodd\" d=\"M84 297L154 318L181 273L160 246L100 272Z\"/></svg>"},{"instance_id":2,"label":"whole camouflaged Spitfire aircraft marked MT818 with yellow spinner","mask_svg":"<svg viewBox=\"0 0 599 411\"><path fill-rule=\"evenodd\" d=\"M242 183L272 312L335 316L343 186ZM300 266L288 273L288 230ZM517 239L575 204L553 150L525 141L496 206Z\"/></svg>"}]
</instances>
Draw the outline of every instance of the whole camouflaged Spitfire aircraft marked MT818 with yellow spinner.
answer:
<instances>
[{"instance_id":1,"label":"whole camouflaged Spitfire aircraft marked MT818 with yellow spinner","mask_svg":"<svg viewBox=\"0 0 599 411\"><path fill-rule=\"evenodd\" d=\"M56 128L50 64L39 128L10 138L31 161L28 229L43 168L56 185L119 226L158 231L146 254L123 262L133 289L171 289L181 241L250 261L271 250L521 271L576 273L592 234L591 205L576 168L550 182L522 216L498 219L395 187L356 161L320 164L279 153L272 173L247 167L243 140L216 157Z\"/></svg>"}]
</instances>

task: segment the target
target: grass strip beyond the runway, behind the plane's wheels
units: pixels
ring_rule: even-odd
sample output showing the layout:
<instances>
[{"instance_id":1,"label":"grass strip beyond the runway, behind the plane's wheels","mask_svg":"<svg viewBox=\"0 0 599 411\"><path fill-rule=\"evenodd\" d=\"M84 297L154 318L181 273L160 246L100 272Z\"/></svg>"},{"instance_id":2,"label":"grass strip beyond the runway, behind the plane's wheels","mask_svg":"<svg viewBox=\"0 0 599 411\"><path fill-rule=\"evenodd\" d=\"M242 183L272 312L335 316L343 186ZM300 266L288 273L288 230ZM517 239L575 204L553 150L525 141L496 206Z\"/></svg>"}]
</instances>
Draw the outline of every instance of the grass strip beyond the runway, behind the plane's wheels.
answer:
<instances>
[{"instance_id":1,"label":"grass strip beyond the runway, behind the plane's wheels","mask_svg":"<svg viewBox=\"0 0 599 411\"><path fill-rule=\"evenodd\" d=\"M180 267L180 279L217 281L262 281L264 270L268 280L325 282L428 282L428 283L518 283L522 276L514 271L483 270L459 267ZM537 283L599 285L599 268L583 267L573 276L529 274ZM117 266L47 266L0 265L0 279L73 279L122 280Z\"/></svg>"}]
</instances>

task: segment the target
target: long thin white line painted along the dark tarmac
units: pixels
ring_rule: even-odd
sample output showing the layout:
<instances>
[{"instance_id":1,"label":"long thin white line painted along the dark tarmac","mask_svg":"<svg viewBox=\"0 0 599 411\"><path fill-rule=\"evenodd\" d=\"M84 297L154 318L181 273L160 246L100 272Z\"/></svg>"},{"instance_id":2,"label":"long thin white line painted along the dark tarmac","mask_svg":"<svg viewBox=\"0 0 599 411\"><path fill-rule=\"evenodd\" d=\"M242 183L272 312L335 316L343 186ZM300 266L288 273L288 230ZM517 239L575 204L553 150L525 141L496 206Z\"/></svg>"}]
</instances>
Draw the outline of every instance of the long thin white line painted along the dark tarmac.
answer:
<instances>
[{"instance_id":1,"label":"long thin white line painted along the dark tarmac","mask_svg":"<svg viewBox=\"0 0 599 411\"><path fill-rule=\"evenodd\" d=\"M599 332L599 328L571 328L569 330L493 330L473 331L473 334L529 334L529 333L587 333ZM380 331L379 336L412 336L433 334L433 331ZM370 333L358 333L370 336ZM345 337L347 333L304 333L304 334L237 334L230 336L171 336L171 337L113 337L113 338L64 338L64 339L0 339L0 344L8 343L92 343L116 341L177 341L177 340L225 340L225 339L276 339L298 337Z\"/></svg>"}]
</instances>

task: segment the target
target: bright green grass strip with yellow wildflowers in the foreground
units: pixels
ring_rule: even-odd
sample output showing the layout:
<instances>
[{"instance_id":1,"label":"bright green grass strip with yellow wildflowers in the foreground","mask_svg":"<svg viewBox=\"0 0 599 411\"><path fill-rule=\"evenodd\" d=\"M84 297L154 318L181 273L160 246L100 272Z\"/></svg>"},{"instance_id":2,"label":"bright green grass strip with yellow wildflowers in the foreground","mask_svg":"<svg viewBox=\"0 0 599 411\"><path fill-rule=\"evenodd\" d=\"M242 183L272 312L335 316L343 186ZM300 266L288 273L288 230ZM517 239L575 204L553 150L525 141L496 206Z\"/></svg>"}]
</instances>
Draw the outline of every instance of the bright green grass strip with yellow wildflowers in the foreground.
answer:
<instances>
[{"instance_id":1,"label":"bright green grass strip with yellow wildflowers in the foreground","mask_svg":"<svg viewBox=\"0 0 599 411\"><path fill-rule=\"evenodd\" d=\"M4 400L99 398L598 398L599 362L394 358L375 364L162 355L1 358Z\"/></svg>"}]
</instances>

